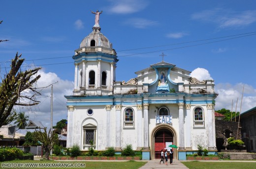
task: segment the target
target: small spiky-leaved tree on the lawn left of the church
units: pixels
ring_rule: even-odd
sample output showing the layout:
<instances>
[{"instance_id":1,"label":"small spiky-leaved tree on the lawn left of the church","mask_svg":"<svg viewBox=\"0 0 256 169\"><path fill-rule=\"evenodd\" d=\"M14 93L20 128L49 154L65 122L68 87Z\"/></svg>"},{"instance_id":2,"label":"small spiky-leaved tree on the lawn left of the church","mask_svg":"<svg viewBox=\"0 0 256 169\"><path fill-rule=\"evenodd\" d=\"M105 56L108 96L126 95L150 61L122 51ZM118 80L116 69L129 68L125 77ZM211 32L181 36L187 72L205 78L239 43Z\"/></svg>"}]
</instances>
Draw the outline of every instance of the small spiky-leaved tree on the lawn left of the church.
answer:
<instances>
[{"instance_id":1,"label":"small spiky-leaved tree on the lawn left of the church","mask_svg":"<svg viewBox=\"0 0 256 169\"><path fill-rule=\"evenodd\" d=\"M34 132L34 137L35 140L41 142L43 144L43 149L44 149L44 158L46 160L50 160L49 154L50 151L53 149L53 146L58 144L59 138L58 134L56 133L56 130L51 130L47 132L47 128L44 127L44 131L42 132L41 129L39 131Z\"/></svg>"}]
</instances>

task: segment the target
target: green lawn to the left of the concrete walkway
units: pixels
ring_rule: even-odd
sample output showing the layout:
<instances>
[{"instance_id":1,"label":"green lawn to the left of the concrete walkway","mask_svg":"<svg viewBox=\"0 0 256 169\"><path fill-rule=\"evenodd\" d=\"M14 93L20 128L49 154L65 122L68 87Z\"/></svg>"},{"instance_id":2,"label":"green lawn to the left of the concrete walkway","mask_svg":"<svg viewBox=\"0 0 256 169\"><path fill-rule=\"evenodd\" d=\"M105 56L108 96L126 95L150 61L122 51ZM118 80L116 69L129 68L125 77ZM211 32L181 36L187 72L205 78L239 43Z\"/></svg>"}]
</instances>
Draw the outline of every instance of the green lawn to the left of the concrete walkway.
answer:
<instances>
[{"instance_id":1,"label":"green lawn to the left of the concrete walkway","mask_svg":"<svg viewBox=\"0 0 256 169\"><path fill-rule=\"evenodd\" d=\"M102 161L34 161L34 160L14 160L0 162L0 168L2 163L85 163L86 169L139 169L144 166L147 162L138 161L127 161L127 162L102 162ZM1 168L5 169L5 168ZM12 169L28 169L28 168L12 168ZM45 168L36 168L45 169ZM60 169L60 168L50 168ZM79 168L68 168L68 169L79 169Z\"/></svg>"}]
</instances>

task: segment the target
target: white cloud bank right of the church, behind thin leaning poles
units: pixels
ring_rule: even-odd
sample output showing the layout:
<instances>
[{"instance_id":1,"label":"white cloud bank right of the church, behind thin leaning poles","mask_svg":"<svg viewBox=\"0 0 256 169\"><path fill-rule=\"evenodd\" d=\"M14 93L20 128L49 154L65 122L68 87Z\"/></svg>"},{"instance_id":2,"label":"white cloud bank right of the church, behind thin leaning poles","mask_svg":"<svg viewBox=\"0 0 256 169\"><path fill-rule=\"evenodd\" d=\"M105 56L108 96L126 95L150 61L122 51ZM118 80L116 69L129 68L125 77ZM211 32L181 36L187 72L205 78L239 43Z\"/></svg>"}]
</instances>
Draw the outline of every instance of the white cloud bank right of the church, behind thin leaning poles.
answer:
<instances>
[{"instance_id":1,"label":"white cloud bank right of the church, behind thin leaning poles","mask_svg":"<svg viewBox=\"0 0 256 169\"><path fill-rule=\"evenodd\" d=\"M241 108L243 85L245 85L245 88ZM252 86L248 84L238 83L236 85L231 85L229 83L220 83L215 85L215 92L219 94L219 96L216 98L215 110L225 108L230 111L231 109L232 111L235 111L236 109L237 112L240 112L241 108L241 112L245 112L253 107L256 107L256 89L254 89Z\"/></svg>"}]
</instances>

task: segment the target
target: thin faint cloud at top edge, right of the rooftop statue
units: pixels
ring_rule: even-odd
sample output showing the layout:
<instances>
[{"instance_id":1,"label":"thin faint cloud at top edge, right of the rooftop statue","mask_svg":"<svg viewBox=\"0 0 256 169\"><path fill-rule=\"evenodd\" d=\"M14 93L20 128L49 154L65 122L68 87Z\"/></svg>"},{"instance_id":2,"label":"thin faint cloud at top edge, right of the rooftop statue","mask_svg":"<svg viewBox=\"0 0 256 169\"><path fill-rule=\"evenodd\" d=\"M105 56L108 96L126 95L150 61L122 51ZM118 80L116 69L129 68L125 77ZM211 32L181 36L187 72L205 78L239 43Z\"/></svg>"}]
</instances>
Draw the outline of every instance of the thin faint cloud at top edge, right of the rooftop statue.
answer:
<instances>
[{"instance_id":1,"label":"thin faint cloud at top edge, right of the rooftop statue","mask_svg":"<svg viewBox=\"0 0 256 169\"><path fill-rule=\"evenodd\" d=\"M130 14L144 9L148 2L145 0L110 0L112 5L109 7L111 13Z\"/></svg>"}]
</instances>

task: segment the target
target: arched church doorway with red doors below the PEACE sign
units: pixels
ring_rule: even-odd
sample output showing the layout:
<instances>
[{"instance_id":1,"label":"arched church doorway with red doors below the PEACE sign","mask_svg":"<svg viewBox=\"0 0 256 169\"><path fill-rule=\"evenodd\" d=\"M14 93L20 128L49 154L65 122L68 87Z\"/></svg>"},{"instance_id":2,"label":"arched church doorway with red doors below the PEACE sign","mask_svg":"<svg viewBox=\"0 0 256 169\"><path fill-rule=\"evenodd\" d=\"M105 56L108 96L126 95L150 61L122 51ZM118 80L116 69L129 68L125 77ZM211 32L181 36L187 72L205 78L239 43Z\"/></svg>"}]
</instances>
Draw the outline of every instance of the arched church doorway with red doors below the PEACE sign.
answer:
<instances>
[{"instance_id":1,"label":"arched church doorway with red doors below the PEACE sign","mask_svg":"<svg viewBox=\"0 0 256 169\"><path fill-rule=\"evenodd\" d=\"M169 124L159 124L152 131L152 159L160 159L161 149L166 147L166 144L177 145L176 132ZM173 149L174 159L177 159L177 149Z\"/></svg>"}]
</instances>

